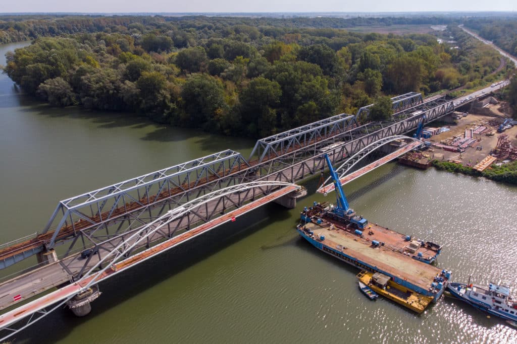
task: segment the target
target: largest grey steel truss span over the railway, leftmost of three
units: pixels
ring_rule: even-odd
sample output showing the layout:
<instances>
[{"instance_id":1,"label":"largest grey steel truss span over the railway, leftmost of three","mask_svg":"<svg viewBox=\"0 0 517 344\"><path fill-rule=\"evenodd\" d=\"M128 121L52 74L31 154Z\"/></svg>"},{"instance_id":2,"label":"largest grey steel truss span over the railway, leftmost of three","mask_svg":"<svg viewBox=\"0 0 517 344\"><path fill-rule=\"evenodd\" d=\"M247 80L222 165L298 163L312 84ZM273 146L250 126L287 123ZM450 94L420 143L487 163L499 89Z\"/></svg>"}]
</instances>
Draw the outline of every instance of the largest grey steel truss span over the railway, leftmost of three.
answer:
<instances>
[{"instance_id":1,"label":"largest grey steel truss span over the railway, leftmost of three","mask_svg":"<svg viewBox=\"0 0 517 344\"><path fill-rule=\"evenodd\" d=\"M45 234L56 228L47 247L53 248L57 238L76 236L88 228L99 230L103 224L148 209L173 194L184 195L188 201L193 197L189 191L248 167L240 153L226 150L61 201L43 230Z\"/></svg>"}]
</instances>

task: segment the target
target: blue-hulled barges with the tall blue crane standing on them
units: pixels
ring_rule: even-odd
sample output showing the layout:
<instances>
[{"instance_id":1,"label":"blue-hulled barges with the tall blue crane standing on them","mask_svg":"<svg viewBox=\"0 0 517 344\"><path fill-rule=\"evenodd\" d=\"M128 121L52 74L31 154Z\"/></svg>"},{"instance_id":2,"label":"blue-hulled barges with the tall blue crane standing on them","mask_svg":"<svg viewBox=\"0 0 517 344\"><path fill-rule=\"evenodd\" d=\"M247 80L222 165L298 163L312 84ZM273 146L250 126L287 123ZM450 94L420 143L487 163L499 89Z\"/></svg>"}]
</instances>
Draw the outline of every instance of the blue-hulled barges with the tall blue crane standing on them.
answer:
<instances>
[{"instance_id":1,"label":"blue-hulled barges with the tall blue crane standing on them","mask_svg":"<svg viewBox=\"0 0 517 344\"><path fill-rule=\"evenodd\" d=\"M315 248L347 264L389 276L391 281L436 302L442 296L450 271L434 267L441 247L414 239L378 224L369 224L348 206L339 178L325 155L338 193L337 205L313 203L303 209L298 234Z\"/></svg>"}]
</instances>

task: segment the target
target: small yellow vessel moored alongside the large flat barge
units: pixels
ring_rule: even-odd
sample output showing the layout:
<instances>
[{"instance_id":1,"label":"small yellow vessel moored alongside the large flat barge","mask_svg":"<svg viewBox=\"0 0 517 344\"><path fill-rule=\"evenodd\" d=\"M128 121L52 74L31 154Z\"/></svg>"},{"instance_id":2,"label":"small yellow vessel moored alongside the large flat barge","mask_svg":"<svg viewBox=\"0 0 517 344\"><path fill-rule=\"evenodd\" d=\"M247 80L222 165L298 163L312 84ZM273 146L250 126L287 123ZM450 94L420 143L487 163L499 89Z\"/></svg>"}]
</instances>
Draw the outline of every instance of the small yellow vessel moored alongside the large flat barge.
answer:
<instances>
[{"instance_id":1,"label":"small yellow vessel moored alongside the large flat barge","mask_svg":"<svg viewBox=\"0 0 517 344\"><path fill-rule=\"evenodd\" d=\"M371 273L368 271L361 271L357 278L362 283L369 286L376 293L397 302L417 313L422 313L425 308L433 300L432 296L423 296L416 291L407 289L393 281L389 276L380 272Z\"/></svg>"}]
</instances>

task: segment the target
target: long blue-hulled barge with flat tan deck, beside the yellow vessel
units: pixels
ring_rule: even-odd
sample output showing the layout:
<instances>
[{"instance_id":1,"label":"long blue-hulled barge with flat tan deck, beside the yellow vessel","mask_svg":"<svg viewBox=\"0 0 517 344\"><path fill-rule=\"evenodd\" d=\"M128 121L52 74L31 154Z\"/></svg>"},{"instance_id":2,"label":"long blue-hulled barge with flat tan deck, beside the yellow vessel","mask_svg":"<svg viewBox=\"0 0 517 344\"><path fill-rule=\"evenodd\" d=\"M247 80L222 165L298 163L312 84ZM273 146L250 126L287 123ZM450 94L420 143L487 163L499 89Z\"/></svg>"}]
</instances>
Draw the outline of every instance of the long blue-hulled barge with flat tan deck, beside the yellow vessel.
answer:
<instances>
[{"instance_id":1,"label":"long blue-hulled barge with flat tan deck, beside the yellow vessel","mask_svg":"<svg viewBox=\"0 0 517 344\"><path fill-rule=\"evenodd\" d=\"M373 234L359 236L330 219L313 217L310 222L299 224L296 230L317 249L360 269L388 275L406 288L432 296L433 302L442 295L450 278L450 272L444 273L442 269L408 256L404 252L409 243L405 236L388 228L371 224L368 230ZM373 240L384 245L374 245ZM427 248L418 250L431 254Z\"/></svg>"}]
</instances>

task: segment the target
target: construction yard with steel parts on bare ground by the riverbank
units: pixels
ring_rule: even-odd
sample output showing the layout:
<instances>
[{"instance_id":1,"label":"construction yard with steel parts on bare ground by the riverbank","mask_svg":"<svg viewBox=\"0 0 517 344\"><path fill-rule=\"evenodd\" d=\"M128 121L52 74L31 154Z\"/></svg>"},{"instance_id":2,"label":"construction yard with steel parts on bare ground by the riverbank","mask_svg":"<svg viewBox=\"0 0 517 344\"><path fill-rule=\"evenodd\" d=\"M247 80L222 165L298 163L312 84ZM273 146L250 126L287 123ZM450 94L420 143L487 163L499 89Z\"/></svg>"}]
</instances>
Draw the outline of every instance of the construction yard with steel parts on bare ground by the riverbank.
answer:
<instances>
[{"instance_id":1,"label":"construction yard with steel parts on bare ground by the riverbank","mask_svg":"<svg viewBox=\"0 0 517 344\"><path fill-rule=\"evenodd\" d=\"M452 172L488 177L504 172L507 179L513 178L508 173L517 175L517 125L501 125L511 121L506 115L507 105L485 104L471 111L455 112L455 124L424 127L422 140L430 142L430 148L409 153L399 161L426 168L434 160L435 167ZM500 126L503 132L498 132Z\"/></svg>"}]
</instances>

